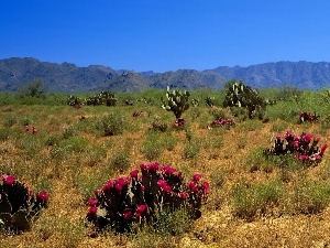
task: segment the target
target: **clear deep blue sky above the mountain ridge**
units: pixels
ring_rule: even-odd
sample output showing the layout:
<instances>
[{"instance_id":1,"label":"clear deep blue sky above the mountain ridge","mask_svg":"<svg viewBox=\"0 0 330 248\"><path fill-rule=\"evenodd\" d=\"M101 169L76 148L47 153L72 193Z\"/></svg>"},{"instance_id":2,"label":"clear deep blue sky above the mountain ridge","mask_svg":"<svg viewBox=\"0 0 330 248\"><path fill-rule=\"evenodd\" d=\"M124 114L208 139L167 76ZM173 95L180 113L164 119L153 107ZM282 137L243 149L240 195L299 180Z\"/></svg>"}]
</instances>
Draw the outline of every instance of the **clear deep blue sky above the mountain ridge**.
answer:
<instances>
[{"instance_id":1,"label":"clear deep blue sky above the mountain ridge","mask_svg":"<svg viewBox=\"0 0 330 248\"><path fill-rule=\"evenodd\" d=\"M0 60L167 72L330 61L329 0L0 0Z\"/></svg>"}]
</instances>

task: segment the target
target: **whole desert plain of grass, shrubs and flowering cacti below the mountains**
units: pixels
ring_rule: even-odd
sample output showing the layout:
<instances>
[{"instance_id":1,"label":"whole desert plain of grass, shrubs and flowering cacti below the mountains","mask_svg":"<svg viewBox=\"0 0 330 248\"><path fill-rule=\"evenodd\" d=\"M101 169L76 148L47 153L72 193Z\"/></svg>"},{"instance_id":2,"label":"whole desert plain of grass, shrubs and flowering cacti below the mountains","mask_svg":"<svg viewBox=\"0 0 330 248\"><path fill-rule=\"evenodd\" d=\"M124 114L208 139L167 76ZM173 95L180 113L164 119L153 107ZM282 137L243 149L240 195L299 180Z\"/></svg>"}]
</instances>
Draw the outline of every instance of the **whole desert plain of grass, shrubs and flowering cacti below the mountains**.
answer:
<instances>
[{"instance_id":1,"label":"whole desert plain of grass, shrubs and flowering cacti below the mountains","mask_svg":"<svg viewBox=\"0 0 330 248\"><path fill-rule=\"evenodd\" d=\"M327 247L329 100L2 93L1 247Z\"/></svg>"}]
</instances>

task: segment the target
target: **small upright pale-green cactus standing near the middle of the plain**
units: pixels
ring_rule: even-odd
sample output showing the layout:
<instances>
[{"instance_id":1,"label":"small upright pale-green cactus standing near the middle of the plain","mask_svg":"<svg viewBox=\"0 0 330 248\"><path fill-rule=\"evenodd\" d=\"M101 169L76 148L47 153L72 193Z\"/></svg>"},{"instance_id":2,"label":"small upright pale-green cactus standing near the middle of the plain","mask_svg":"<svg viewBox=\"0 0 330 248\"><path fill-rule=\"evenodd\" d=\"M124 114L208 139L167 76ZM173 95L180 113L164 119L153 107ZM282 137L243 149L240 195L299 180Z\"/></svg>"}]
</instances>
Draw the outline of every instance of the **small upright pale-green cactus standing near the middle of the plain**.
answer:
<instances>
[{"instance_id":1,"label":"small upright pale-green cactus standing near the middle of the plain","mask_svg":"<svg viewBox=\"0 0 330 248\"><path fill-rule=\"evenodd\" d=\"M167 86L166 98L167 100L163 100L162 98L162 108L166 109L167 111L173 111L176 119L182 118L184 111L189 108L189 91L179 91L179 90L172 90L169 91L169 87Z\"/></svg>"}]
</instances>

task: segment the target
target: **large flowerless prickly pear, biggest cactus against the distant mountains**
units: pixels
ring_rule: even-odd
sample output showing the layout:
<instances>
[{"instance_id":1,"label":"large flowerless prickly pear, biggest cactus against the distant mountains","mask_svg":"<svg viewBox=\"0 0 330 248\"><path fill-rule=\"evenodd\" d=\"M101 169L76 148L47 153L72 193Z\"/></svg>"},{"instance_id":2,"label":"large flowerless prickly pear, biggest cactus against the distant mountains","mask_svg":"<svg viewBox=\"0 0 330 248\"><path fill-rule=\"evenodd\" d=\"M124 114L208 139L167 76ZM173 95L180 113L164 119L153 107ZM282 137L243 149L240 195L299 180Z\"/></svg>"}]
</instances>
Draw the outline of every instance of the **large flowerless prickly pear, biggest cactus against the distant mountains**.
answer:
<instances>
[{"instance_id":1,"label":"large flowerless prickly pear, biggest cactus against the distant mountains","mask_svg":"<svg viewBox=\"0 0 330 248\"><path fill-rule=\"evenodd\" d=\"M250 119L252 119L255 115L262 119L263 112L266 108L266 100L258 95L256 89L245 86L242 80L229 82L227 87L223 107L244 108L248 110Z\"/></svg>"}]
</instances>

